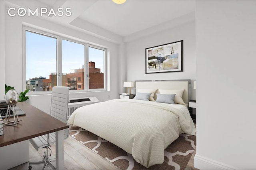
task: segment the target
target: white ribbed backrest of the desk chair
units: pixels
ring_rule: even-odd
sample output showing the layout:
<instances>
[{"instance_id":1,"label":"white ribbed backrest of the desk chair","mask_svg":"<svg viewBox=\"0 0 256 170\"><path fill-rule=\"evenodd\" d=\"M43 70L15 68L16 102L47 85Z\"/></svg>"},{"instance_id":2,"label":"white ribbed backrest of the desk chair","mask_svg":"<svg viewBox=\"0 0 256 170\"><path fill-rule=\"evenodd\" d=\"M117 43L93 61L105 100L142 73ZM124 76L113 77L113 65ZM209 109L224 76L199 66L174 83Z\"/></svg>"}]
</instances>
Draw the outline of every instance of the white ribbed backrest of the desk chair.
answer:
<instances>
[{"instance_id":1,"label":"white ribbed backrest of the desk chair","mask_svg":"<svg viewBox=\"0 0 256 170\"><path fill-rule=\"evenodd\" d=\"M68 98L70 87L52 87L51 116L68 124ZM64 138L69 135L69 128L64 129Z\"/></svg>"}]
</instances>

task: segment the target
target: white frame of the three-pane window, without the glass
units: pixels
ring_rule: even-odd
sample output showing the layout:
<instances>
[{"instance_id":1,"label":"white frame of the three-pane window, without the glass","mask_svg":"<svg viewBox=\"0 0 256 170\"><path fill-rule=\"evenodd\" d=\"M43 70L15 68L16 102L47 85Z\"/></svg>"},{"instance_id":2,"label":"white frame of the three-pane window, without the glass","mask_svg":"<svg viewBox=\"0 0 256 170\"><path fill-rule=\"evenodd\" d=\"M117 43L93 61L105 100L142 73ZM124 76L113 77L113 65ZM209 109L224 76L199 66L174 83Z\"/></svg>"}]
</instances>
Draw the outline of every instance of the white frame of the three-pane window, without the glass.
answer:
<instances>
[{"instance_id":1,"label":"white frame of the three-pane window, without the glass","mask_svg":"<svg viewBox=\"0 0 256 170\"><path fill-rule=\"evenodd\" d=\"M107 91L107 62L106 62L106 53L107 49L104 47L100 47L97 45L92 45L86 43L82 40L75 40L76 38L70 38L70 36L58 33L50 33L43 30L39 30L36 28L31 28L29 26L22 26L22 89L23 91L26 89L26 31L32 32L34 34L41 34L43 36L48 36L57 39L57 49L56 49L56 74L57 77L57 86L62 86L62 40L80 43L84 45L84 90L74 90L70 91L70 93L81 93L81 92L93 92L93 91ZM88 48L93 47L96 49L101 49L104 51L104 88L101 89L89 89L89 64L88 64ZM44 94L51 94L52 91L29 91L28 95L44 95Z\"/></svg>"}]
</instances>

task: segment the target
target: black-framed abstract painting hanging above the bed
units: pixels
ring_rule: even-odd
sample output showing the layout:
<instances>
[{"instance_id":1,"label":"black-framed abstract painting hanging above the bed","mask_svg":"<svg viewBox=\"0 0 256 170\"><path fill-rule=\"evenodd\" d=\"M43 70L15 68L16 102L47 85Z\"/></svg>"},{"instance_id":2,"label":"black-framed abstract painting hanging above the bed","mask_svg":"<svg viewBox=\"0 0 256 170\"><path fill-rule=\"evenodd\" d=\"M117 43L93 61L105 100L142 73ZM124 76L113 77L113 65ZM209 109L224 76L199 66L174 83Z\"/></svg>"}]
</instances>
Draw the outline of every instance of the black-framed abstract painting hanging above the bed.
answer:
<instances>
[{"instance_id":1,"label":"black-framed abstract painting hanging above the bed","mask_svg":"<svg viewBox=\"0 0 256 170\"><path fill-rule=\"evenodd\" d=\"M183 71L183 40L145 49L146 74Z\"/></svg>"}]
</instances>

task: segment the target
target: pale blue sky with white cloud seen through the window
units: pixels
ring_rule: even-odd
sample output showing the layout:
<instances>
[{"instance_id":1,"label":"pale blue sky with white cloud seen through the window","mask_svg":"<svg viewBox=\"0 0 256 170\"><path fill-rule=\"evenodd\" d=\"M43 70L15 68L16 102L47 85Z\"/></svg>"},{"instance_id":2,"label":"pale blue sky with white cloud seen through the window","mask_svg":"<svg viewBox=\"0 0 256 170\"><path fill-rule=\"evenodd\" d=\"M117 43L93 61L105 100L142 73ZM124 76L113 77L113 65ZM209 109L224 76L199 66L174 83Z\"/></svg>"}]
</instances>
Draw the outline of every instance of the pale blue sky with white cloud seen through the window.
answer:
<instances>
[{"instance_id":1,"label":"pale blue sky with white cloud seen through the window","mask_svg":"<svg viewBox=\"0 0 256 170\"><path fill-rule=\"evenodd\" d=\"M62 40L62 73L82 68L85 48L83 44ZM89 61L104 73L104 51L89 47ZM26 80L34 77L46 77L56 73L57 39L41 34L26 32Z\"/></svg>"}]
</instances>

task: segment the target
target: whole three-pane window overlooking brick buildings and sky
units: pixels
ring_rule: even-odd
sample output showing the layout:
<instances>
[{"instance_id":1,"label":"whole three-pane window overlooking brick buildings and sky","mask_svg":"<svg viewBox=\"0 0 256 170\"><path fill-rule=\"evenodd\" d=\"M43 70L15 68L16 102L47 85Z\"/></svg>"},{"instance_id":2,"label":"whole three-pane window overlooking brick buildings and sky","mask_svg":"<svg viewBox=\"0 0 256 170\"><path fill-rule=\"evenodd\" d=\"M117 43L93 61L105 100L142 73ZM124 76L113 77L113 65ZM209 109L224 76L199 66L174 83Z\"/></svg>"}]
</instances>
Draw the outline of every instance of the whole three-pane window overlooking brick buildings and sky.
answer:
<instances>
[{"instance_id":1,"label":"whole three-pane window overlooking brick buildings and sky","mask_svg":"<svg viewBox=\"0 0 256 170\"><path fill-rule=\"evenodd\" d=\"M70 90L106 90L106 49L33 28L24 32L24 84L33 91L51 91L54 86Z\"/></svg>"}]
</instances>

